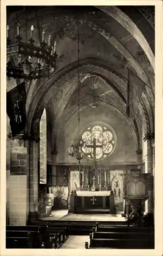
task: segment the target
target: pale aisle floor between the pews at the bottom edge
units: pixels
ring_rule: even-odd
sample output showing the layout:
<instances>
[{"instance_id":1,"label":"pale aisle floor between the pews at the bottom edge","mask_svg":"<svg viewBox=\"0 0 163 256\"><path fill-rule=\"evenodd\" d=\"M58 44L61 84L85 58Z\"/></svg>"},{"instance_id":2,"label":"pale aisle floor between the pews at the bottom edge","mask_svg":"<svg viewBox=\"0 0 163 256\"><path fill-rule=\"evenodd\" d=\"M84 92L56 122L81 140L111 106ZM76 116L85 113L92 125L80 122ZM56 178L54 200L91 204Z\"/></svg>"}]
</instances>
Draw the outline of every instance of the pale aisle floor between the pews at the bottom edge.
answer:
<instances>
[{"instance_id":1,"label":"pale aisle floor between the pews at the bottom edge","mask_svg":"<svg viewBox=\"0 0 163 256\"><path fill-rule=\"evenodd\" d=\"M85 242L89 242L89 236L69 236L61 249L85 249Z\"/></svg>"}]
</instances>

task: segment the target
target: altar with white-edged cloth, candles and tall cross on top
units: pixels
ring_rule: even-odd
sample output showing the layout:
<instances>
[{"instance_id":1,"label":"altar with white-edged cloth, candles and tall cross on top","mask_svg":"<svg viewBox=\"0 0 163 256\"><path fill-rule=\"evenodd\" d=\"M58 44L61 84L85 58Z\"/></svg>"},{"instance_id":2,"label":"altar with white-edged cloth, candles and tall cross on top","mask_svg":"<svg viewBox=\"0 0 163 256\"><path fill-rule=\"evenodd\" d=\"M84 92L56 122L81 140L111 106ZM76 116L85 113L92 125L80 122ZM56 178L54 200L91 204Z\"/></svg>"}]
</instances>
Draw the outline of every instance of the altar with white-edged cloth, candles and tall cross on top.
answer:
<instances>
[{"instance_id":1,"label":"altar with white-edged cloth, candles and tall cross on top","mask_svg":"<svg viewBox=\"0 0 163 256\"><path fill-rule=\"evenodd\" d=\"M93 167L88 173L82 172L82 182L78 190L71 191L70 213L108 213L114 214L114 193L110 186L106 184L106 171L104 171L104 180L101 179L101 173L97 169L96 148L102 145L96 145L96 139L93 139L93 145L87 145L93 148ZM84 175L87 176L86 182Z\"/></svg>"}]
</instances>

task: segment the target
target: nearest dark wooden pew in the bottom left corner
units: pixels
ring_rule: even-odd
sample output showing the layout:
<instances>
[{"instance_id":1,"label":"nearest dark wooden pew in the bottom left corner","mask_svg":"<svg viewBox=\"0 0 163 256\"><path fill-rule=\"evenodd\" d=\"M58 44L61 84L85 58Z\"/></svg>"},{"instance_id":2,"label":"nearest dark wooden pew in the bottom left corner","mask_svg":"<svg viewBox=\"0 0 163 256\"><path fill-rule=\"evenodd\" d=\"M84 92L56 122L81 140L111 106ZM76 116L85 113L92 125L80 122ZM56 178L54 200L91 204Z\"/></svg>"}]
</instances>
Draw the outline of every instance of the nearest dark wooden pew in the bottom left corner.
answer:
<instances>
[{"instance_id":1,"label":"nearest dark wooden pew in the bottom left corner","mask_svg":"<svg viewBox=\"0 0 163 256\"><path fill-rule=\"evenodd\" d=\"M30 232L23 234L24 236L6 236L6 248L33 248L32 235Z\"/></svg>"}]
</instances>

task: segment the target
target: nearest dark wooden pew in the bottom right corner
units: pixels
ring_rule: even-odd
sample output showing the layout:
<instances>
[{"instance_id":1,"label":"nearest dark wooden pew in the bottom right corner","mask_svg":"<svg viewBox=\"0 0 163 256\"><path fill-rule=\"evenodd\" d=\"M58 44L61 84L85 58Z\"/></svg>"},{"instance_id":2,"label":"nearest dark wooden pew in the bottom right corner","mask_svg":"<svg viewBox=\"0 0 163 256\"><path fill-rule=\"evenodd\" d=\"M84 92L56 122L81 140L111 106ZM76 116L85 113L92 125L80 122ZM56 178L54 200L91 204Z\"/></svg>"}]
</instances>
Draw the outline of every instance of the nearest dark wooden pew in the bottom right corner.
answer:
<instances>
[{"instance_id":1,"label":"nearest dark wooden pew in the bottom right corner","mask_svg":"<svg viewBox=\"0 0 163 256\"><path fill-rule=\"evenodd\" d=\"M92 238L90 246L85 244L85 248L117 248L117 249L152 249L154 241L147 239L104 239Z\"/></svg>"}]
</instances>

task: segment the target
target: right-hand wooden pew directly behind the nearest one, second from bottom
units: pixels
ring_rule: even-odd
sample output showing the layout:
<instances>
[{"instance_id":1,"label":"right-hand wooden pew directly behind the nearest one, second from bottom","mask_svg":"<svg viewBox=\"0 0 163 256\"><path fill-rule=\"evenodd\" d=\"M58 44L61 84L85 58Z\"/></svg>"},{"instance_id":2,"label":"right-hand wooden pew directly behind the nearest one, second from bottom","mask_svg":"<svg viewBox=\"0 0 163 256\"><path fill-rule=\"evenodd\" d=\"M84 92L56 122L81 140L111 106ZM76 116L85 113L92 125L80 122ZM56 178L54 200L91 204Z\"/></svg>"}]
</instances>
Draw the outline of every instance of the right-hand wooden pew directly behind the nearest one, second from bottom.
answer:
<instances>
[{"instance_id":1,"label":"right-hand wooden pew directly behind the nearest one, second from bottom","mask_svg":"<svg viewBox=\"0 0 163 256\"><path fill-rule=\"evenodd\" d=\"M90 233L90 239L146 239L154 240L154 233L134 233L134 232L93 232Z\"/></svg>"}]
</instances>

